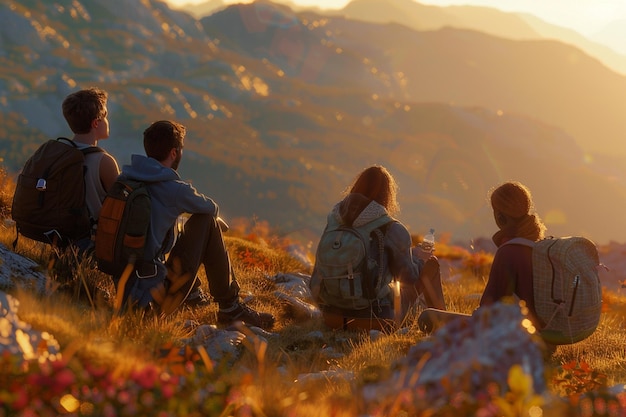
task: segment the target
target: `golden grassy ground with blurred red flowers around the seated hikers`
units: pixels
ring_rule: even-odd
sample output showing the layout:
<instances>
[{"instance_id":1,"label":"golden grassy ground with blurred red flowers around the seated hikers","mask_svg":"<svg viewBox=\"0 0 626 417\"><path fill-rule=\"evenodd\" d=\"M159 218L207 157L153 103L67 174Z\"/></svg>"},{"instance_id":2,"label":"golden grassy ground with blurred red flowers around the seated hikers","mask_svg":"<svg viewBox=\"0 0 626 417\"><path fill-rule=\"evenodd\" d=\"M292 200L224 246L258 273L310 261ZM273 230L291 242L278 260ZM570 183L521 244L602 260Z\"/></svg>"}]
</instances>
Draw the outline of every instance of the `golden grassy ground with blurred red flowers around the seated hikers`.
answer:
<instances>
[{"instance_id":1,"label":"golden grassy ground with blurred red flowers around the seated hikers","mask_svg":"<svg viewBox=\"0 0 626 417\"><path fill-rule=\"evenodd\" d=\"M81 268L76 276L66 277L63 285L51 281L56 290L44 297L14 292L20 301L20 319L53 335L62 359L32 360L18 366L11 356L0 358L0 411L19 416L135 416L156 415L157 411L159 416L358 415L354 401L358 384L332 375L348 372L357 381L375 382L411 346L427 340L427 335L413 319L403 324L403 332L370 339L366 334L330 331L320 319L297 318L276 297L275 284L266 277L279 272L308 274L310 269L286 252L289 242L273 236L267 225L251 225L233 228L226 243L242 295L252 307L277 316L275 336L264 339L240 329L248 335L243 355L215 363L206 351L181 343L190 337L192 323L216 323L215 304L183 309L165 320L149 314L117 316L110 278ZM0 229L1 243L8 246L13 238L11 229ZM42 264L47 259L47 249L27 239L20 240L17 250ZM439 245L437 253L457 268L456 280L444 283L448 306L472 312L477 298L471 295L482 291L491 257L445 244ZM200 277L206 285L202 270ZM605 292L604 301L595 334L583 342L560 346L546 358L549 392L542 406L544 416L590 415L581 411L581 404L589 398L616 404L619 397L607 388L626 381L626 300ZM320 372L327 374L320 377ZM294 382L304 381L305 375L317 378ZM521 392L512 388L511 394L496 396L501 400L487 401L494 413L489 415L501 415L508 407L502 401L517 410L506 415L528 415L523 410L530 406L527 396L531 394L527 388ZM397 400L381 399L387 405ZM465 397L452 411L479 415L484 401ZM452 411L426 407L420 415L448 416Z\"/></svg>"}]
</instances>

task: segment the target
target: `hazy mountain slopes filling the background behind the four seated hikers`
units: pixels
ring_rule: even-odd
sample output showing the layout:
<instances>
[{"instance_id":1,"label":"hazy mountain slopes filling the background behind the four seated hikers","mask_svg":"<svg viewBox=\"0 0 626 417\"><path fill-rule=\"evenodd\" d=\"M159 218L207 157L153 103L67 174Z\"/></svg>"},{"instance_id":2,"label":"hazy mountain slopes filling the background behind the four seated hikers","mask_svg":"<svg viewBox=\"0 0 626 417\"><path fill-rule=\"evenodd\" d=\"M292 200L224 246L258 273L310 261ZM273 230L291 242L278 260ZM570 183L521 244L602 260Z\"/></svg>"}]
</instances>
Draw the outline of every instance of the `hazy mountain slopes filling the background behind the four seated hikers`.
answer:
<instances>
[{"instance_id":1,"label":"hazy mountain slopes filling the background behind the four seated hikers","mask_svg":"<svg viewBox=\"0 0 626 417\"><path fill-rule=\"evenodd\" d=\"M316 239L378 163L413 233L489 236L488 190L518 179L550 233L626 240L626 77L557 41L369 20L268 2L198 19L156 0L10 0L0 157L17 172L69 135L61 101L98 85L110 93L101 145L120 164L150 122L176 119L188 128L181 175L224 216L285 235Z\"/></svg>"}]
</instances>

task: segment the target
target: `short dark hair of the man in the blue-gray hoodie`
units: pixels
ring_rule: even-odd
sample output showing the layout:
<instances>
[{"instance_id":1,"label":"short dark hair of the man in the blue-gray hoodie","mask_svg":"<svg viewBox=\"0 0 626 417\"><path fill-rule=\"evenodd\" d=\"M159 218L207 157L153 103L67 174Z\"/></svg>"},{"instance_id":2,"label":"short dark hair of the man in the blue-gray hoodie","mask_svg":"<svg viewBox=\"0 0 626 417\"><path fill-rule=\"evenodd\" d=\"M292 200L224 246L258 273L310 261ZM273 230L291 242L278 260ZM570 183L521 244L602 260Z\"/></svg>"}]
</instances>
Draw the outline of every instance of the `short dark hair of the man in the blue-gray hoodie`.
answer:
<instances>
[{"instance_id":1,"label":"short dark hair of the man in the blue-gray hoodie","mask_svg":"<svg viewBox=\"0 0 626 417\"><path fill-rule=\"evenodd\" d=\"M143 148L146 155L157 161L164 161L167 154L176 148L183 148L187 129L171 120L159 120L152 123L143 132Z\"/></svg>"}]
</instances>

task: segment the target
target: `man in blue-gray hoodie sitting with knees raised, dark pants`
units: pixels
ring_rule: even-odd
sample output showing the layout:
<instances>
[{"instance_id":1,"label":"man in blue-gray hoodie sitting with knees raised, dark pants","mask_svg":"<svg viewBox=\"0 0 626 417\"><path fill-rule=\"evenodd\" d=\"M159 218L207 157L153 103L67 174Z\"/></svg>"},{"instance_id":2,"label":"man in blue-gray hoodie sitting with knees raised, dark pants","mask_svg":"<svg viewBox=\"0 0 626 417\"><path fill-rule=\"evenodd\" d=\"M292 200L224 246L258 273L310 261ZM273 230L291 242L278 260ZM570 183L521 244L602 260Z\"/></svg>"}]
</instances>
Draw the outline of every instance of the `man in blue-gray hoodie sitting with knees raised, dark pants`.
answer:
<instances>
[{"instance_id":1,"label":"man in blue-gray hoodie sitting with knees raised, dark pants","mask_svg":"<svg viewBox=\"0 0 626 417\"><path fill-rule=\"evenodd\" d=\"M151 196L145 255L126 283L125 304L145 308L154 303L161 313L170 314L198 287L196 273L203 264L209 291L219 305L218 322L243 321L269 329L274 316L254 311L239 300L217 204L181 180L176 171L185 133L185 127L173 121L153 123L144 131L147 156L132 155L131 165L122 168L121 176L145 182ZM191 216L175 237L177 219L183 213Z\"/></svg>"}]
</instances>

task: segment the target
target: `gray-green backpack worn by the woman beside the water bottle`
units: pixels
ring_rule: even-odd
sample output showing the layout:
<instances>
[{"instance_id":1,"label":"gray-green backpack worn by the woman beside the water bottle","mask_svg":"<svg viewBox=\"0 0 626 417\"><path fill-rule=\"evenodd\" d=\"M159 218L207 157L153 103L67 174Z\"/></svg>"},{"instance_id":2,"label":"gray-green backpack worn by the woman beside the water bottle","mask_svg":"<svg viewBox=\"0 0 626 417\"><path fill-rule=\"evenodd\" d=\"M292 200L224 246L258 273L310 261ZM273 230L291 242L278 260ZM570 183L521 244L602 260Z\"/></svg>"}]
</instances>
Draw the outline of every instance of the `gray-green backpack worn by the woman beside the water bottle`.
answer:
<instances>
[{"instance_id":1,"label":"gray-green backpack worn by the woman beside the water bottle","mask_svg":"<svg viewBox=\"0 0 626 417\"><path fill-rule=\"evenodd\" d=\"M340 223L332 213L328 216L311 277L320 304L361 310L388 295L391 276L384 275L384 234L380 229L392 221L385 215L351 227ZM372 239L377 239L377 254L370 253Z\"/></svg>"}]
</instances>

